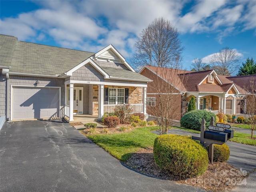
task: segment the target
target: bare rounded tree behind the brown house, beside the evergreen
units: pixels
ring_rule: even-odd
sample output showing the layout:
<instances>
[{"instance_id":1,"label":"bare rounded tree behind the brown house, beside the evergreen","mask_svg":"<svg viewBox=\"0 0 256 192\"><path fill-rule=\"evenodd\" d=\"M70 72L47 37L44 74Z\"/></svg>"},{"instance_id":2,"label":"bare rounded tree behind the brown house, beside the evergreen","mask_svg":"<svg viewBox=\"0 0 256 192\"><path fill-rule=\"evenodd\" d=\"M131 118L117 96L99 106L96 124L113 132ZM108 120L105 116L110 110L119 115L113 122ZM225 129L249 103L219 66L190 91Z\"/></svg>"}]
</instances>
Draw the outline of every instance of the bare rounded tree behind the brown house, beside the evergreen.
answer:
<instances>
[{"instance_id":1,"label":"bare rounded tree behind the brown house, beside the evergreen","mask_svg":"<svg viewBox=\"0 0 256 192\"><path fill-rule=\"evenodd\" d=\"M235 50L224 47L212 56L210 64L218 74L230 75L238 69L239 61L240 56Z\"/></svg>"}]
</instances>

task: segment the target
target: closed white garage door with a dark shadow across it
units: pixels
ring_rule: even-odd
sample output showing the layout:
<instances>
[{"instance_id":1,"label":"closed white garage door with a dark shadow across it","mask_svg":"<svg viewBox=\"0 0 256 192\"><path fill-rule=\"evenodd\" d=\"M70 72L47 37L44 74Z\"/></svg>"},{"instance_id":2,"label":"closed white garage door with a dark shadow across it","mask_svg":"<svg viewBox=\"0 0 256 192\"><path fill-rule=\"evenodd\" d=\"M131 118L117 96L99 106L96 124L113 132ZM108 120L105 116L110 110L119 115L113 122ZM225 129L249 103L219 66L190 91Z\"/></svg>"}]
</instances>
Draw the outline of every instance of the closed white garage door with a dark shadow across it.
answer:
<instances>
[{"instance_id":1,"label":"closed white garage door with a dark shadow across it","mask_svg":"<svg viewBox=\"0 0 256 192\"><path fill-rule=\"evenodd\" d=\"M59 117L58 88L14 88L12 119Z\"/></svg>"}]
</instances>

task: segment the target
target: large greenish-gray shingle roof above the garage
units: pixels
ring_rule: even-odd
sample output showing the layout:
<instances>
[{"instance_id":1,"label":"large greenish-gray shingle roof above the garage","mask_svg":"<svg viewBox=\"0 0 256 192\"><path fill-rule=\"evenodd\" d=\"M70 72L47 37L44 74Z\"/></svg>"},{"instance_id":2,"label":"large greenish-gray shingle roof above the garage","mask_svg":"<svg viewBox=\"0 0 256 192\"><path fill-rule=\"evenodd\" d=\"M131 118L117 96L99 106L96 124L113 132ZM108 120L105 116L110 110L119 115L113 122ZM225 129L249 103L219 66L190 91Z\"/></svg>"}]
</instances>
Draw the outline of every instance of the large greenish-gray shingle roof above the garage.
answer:
<instances>
[{"instance_id":1,"label":"large greenish-gray shingle roof above the garage","mask_svg":"<svg viewBox=\"0 0 256 192\"><path fill-rule=\"evenodd\" d=\"M94 54L17 41L6 35L0 35L0 42L0 65L11 66L10 72L60 75Z\"/></svg>"}]
</instances>

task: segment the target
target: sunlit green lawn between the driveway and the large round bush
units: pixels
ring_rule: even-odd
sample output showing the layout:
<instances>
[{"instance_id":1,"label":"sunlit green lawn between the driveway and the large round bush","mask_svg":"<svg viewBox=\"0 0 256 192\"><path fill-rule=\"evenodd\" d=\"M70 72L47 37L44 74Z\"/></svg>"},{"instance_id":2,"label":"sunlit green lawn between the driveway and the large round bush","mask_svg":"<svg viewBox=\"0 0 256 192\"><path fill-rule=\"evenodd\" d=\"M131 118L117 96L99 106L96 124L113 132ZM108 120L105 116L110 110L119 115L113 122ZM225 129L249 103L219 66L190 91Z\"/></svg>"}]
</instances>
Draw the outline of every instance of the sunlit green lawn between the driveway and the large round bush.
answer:
<instances>
[{"instance_id":1,"label":"sunlit green lawn between the driveway and the large round bush","mask_svg":"<svg viewBox=\"0 0 256 192\"><path fill-rule=\"evenodd\" d=\"M154 140L158 135L150 131L157 129L157 126L152 126L136 128L131 132L122 134L88 135L87 137L115 158L125 162L140 148L154 145Z\"/></svg>"}]
</instances>

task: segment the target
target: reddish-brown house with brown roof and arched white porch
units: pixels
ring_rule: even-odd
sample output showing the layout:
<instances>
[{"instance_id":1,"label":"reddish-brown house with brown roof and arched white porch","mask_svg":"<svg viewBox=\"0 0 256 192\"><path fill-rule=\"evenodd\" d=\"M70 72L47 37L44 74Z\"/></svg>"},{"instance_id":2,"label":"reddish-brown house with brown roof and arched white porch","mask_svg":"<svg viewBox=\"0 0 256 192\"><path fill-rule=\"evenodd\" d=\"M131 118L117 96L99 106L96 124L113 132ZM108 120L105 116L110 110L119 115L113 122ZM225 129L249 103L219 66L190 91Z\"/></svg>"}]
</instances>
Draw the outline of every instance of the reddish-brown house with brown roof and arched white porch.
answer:
<instances>
[{"instance_id":1,"label":"reddish-brown house with brown roof and arched white porch","mask_svg":"<svg viewBox=\"0 0 256 192\"><path fill-rule=\"evenodd\" d=\"M242 103L245 102L244 96L248 93L243 87L249 84L250 77L222 76L218 75L214 70L199 72L168 70L170 72L166 73L166 68L154 66L144 66L140 70L140 74L153 80L153 82L148 83L147 105L150 106L157 103L156 92L154 92L156 84L154 84L154 81L160 82L162 80L163 83L172 84L176 89L175 94L179 94L179 99L174 105L179 106L176 112L181 116L187 112L188 103L192 96L195 97L196 109L199 110L210 110L215 114L218 113L219 109L222 109L225 114L244 113ZM148 113L150 114L149 111ZM180 120L180 118L177 120Z\"/></svg>"}]
</instances>

